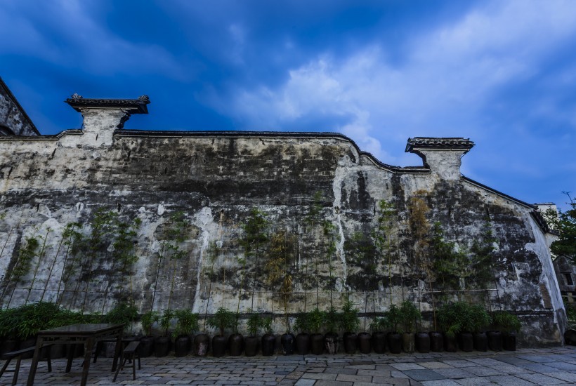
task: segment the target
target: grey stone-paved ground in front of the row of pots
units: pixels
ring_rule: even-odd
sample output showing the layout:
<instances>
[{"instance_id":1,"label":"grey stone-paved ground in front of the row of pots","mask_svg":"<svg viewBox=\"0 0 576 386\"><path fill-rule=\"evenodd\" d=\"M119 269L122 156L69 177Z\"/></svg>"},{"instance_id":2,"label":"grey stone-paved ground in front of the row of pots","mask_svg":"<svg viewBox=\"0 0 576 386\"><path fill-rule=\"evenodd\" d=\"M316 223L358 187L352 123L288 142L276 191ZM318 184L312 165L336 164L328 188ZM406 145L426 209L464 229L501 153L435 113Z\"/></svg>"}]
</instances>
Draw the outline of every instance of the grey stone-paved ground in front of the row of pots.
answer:
<instances>
[{"instance_id":1,"label":"grey stone-paved ground in front of the row of pots","mask_svg":"<svg viewBox=\"0 0 576 386\"><path fill-rule=\"evenodd\" d=\"M112 359L91 364L89 385L114 385ZM12 365L11 365L12 366ZM38 366L35 385L78 385L81 359L64 373L65 359ZM13 367L13 366L12 366ZM30 359L22 361L18 385L25 384ZM0 378L10 385L12 373ZM287 357L143 358L132 380L124 368L116 384L128 385L576 385L576 347L522 349L516 352L430 354L292 355Z\"/></svg>"}]
</instances>

